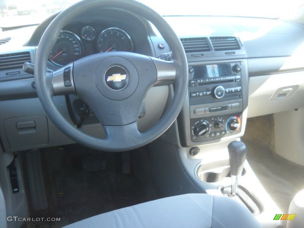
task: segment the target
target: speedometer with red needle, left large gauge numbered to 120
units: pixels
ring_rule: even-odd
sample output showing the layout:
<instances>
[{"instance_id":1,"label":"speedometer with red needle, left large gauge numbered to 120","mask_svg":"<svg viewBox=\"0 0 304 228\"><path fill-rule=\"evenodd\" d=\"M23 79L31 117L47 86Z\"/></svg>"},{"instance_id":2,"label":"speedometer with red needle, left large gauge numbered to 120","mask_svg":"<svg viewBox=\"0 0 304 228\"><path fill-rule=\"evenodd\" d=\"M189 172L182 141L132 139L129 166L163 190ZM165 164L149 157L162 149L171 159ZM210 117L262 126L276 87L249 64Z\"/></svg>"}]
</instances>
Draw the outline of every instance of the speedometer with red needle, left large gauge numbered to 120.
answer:
<instances>
[{"instance_id":1,"label":"speedometer with red needle, left large gauge numbered to 120","mask_svg":"<svg viewBox=\"0 0 304 228\"><path fill-rule=\"evenodd\" d=\"M75 33L61 31L49 59L54 64L64 66L80 59L83 55L83 45L79 37Z\"/></svg>"}]
</instances>

